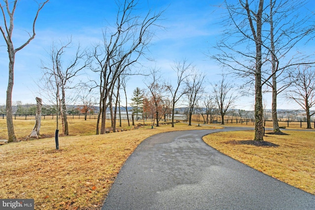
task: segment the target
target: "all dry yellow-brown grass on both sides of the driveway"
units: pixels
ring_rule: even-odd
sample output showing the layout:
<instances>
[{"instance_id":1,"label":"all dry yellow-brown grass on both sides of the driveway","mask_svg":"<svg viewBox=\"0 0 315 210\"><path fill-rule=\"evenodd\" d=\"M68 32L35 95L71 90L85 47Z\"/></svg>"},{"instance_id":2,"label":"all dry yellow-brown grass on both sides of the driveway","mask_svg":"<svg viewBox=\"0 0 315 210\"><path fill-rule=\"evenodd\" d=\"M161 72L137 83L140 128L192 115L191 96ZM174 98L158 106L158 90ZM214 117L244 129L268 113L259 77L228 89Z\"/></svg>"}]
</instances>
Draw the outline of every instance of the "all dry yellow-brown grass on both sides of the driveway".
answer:
<instances>
[{"instance_id":1,"label":"all dry yellow-brown grass on both sides of the driveway","mask_svg":"<svg viewBox=\"0 0 315 210\"><path fill-rule=\"evenodd\" d=\"M31 133L34 122L14 120L20 140ZM69 119L72 136L60 137L60 150L55 150L53 119L42 120L40 130L43 137L50 138L0 146L0 198L33 198L36 210L99 210L127 157L144 139L173 130L221 128L177 123L175 128L169 124L132 129L124 121L123 129L128 131L92 135L95 123L94 119ZM278 148L235 144L252 139L252 131L216 133L204 140L263 173L315 194L314 132L285 132L290 135L265 137ZM3 138L6 125L5 119L0 119Z\"/></svg>"}]
</instances>

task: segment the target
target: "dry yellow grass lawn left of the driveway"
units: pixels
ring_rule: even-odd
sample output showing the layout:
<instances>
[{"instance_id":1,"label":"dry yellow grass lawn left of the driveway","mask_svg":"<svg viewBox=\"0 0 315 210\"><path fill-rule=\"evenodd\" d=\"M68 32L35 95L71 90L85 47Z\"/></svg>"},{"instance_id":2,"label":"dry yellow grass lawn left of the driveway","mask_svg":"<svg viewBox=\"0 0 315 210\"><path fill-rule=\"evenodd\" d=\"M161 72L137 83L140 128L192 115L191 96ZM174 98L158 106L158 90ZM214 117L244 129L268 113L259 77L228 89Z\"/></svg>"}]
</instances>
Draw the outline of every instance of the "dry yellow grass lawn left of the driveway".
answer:
<instances>
[{"instance_id":1,"label":"dry yellow grass lawn left of the driveway","mask_svg":"<svg viewBox=\"0 0 315 210\"><path fill-rule=\"evenodd\" d=\"M3 121L0 138L6 135ZM33 123L14 120L17 136L24 139L29 135ZM74 136L60 137L60 150L55 150L54 138L0 146L0 198L33 198L36 210L99 210L120 168L144 139L166 131L211 128L219 127L177 123L174 128L145 126L80 136L94 133L95 122L90 126L87 121L73 120L69 131ZM55 129L53 122L42 120L41 133L52 135Z\"/></svg>"}]
</instances>

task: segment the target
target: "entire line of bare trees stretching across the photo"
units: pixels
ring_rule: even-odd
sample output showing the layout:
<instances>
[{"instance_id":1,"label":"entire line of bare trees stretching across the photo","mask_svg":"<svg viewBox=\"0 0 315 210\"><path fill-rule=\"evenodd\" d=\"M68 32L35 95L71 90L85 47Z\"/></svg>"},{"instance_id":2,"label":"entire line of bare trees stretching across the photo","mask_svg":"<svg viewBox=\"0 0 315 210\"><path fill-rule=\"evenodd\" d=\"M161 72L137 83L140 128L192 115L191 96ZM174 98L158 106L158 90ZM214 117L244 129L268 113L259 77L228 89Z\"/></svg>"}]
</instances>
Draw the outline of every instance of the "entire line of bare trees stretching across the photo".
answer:
<instances>
[{"instance_id":1,"label":"entire line of bare trees stretching across the photo","mask_svg":"<svg viewBox=\"0 0 315 210\"><path fill-rule=\"evenodd\" d=\"M13 47L11 39L18 0L4 0L4 5L0 3L4 21L0 31L9 56L6 98L9 142L16 141L11 98L15 54L35 37L38 14L48 1L38 3L32 22L32 33L29 33L30 37L18 48ZM55 104L56 113L62 119L64 135L69 134L68 105L77 101L81 101L85 113L97 104L95 134L105 133L107 110L110 111L110 123L115 131L120 107L126 107L127 110L127 83L133 75L145 77L146 90L135 90L132 104L142 106L145 116L154 119L156 126L166 110L171 113L174 126L175 107L181 101L185 101L188 107L189 125L192 114L200 107L205 108L205 115L211 115L213 107L216 107L215 110L219 111L224 123L224 116L233 109L236 99L240 97L227 80L227 73L232 73L237 78L244 79L245 84L242 87L246 92L253 90L255 95L254 140L263 141L264 91L272 92L274 132L281 132L278 125L277 96L283 92L305 110L308 128L311 128L310 120L314 112L310 109L315 105L314 57L301 53L291 56L297 43L309 41L315 33L313 14L296 13L304 3L304 0L240 0L235 4L224 1L225 28L215 46L215 52L219 53L209 51L209 57L217 60L224 71L221 80L212 82L212 88L206 90L205 83L209 84L205 79L206 74L186 59L174 61L171 66L174 77L170 81L163 81L158 69L148 68L140 63L141 59L150 60L148 52L155 31L163 28L163 11L149 10L144 15L139 15L138 1L118 1L115 21L111 26L102 29L99 43L92 43L85 49L80 45L75 46L71 37L66 41L52 43L51 49L47 50L48 60L42 61L42 78L37 85L48 103ZM71 59L67 54L71 55ZM88 81L82 79L83 75ZM137 104L137 97L141 94L145 97L142 103ZM121 104L122 101L126 103Z\"/></svg>"}]
</instances>

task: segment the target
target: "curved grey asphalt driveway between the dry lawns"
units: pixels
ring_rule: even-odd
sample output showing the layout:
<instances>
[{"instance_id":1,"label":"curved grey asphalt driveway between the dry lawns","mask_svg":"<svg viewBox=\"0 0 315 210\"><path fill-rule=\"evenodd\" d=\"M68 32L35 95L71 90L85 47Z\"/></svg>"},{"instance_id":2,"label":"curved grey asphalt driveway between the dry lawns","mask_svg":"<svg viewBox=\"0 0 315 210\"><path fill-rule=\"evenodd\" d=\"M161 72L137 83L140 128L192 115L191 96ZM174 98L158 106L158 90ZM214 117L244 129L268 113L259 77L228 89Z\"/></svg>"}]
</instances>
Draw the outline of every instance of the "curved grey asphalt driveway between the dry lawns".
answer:
<instances>
[{"instance_id":1,"label":"curved grey asphalt driveway between the dry lawns","mask_svg":"<svg viewBox=\"0 0 315 210\"><path fill-rule=\"evenodd\" d=\"M202 136L229 127L161 133L143 141L102 210L315 210L315 196L209 147Z\"/></svg>"}]
</instances>

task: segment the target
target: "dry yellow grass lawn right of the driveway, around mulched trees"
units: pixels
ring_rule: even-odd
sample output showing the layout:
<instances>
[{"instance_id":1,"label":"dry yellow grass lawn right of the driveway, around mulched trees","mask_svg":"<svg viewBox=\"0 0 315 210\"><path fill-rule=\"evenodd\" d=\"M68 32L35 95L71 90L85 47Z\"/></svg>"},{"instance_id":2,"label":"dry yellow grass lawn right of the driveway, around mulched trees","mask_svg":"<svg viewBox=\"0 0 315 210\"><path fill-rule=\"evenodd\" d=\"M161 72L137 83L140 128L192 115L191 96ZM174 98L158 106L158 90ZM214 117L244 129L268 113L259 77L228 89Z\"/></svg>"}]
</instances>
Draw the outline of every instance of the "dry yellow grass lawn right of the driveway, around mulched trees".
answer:
<instances>
[{"instance_id":1,"label":"dry yellow grass lawn right of the driveway, around mulched trees","mask_svg":"<svg viewBox=\"0 0 315 210\"><path fill-rule=\"evenodd\" d=\"M253 132L214 133L205 136L204 141L258 171L315 194L315 133L285 130L289 135L267 134L264 137L265 141L279 147L235 144L241 140L252 140Z\"/></svg>"}]
</instances>

